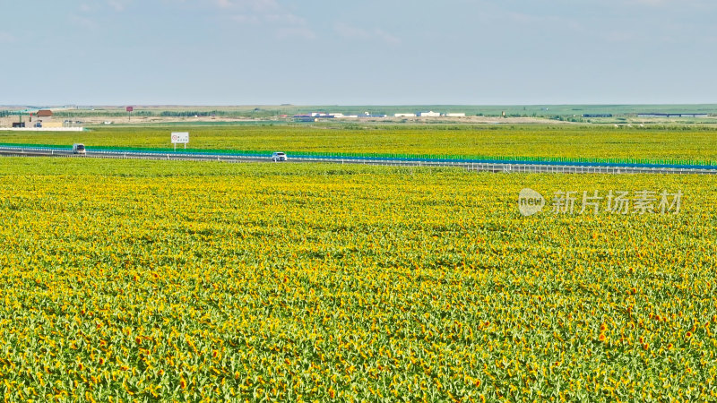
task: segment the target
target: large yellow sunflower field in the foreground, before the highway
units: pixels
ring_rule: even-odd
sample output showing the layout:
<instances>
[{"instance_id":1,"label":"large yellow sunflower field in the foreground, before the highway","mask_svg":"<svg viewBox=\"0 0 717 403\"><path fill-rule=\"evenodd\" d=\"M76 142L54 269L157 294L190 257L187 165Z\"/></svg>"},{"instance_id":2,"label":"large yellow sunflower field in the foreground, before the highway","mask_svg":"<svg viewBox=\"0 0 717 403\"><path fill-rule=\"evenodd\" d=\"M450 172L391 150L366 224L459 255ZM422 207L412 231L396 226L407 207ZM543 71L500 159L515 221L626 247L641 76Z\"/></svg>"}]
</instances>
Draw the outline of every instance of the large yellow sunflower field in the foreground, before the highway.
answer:
<instances>
[{"instance_id":1,"label":"large yellow sunflower field in the foreground, before the highway","mask_svg":"<svg viewBox=\"0 0 717 403\"><path fill-rule=\"evenodd\" d=\"M518 210L530 187L678 211ZM717 177L0 159L4 401L717 399Z\"/></svg>"}]
</instances>

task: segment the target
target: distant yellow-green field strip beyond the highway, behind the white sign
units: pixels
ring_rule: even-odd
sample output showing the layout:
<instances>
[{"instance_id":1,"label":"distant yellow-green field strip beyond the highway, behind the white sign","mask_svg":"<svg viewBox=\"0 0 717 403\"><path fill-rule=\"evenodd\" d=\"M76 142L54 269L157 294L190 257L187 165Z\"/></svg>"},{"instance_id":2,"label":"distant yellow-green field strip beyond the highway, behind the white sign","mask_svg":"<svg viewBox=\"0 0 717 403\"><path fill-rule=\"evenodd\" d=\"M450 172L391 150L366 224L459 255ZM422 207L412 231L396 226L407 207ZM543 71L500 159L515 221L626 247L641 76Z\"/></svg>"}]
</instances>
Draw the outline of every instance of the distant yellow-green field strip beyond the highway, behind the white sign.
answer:
<instances>
[{"instance_id":1,"label":"distant yellow-green field strip beyond the highway, behind the white sign","mask_svg":"<svg viewBox=\"0 0 717 403\"><path fill-rule=\"evenodd\" d=\"M717 161L717 129L709 126L160 125L82 133L0 132L0 143L170 148L169 133L182 131L190 133L191 148L209 150Z\"/></svg>"}]
</instances>

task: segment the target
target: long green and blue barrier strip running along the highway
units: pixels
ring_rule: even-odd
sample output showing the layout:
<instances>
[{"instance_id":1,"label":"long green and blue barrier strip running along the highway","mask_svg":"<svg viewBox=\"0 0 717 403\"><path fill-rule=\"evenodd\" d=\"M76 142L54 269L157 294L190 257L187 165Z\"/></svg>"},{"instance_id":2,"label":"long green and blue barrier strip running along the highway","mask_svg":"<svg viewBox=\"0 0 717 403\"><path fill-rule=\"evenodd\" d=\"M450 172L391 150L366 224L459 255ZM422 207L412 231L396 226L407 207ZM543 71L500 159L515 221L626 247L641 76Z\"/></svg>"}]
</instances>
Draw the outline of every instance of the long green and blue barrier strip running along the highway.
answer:
<instances>
[{"instance_id":1,"label":"long green and blue barrier strip running along the highway","mask_svg":"<svg viewBox=\"0 0 717 403\"><path fill-rule=\"evenodd\" d=\"M67 147L45 144L0 144L0 148L19 150L68 150ZM129 148L129 147L87 147L89 152L99 153L138 153L138 154L170 154L209 157L271 157L272 151L267 150L196 150L173 148ZM679 159L586 159L586 158L540 158L540 157L507 157L507 156L469 156L469 155L436 155L436 154L399 154L399 153L326 153L311 151L286 151L290 158L326 159L326 160L384 160L413 161L435 163L475 163L475 164L518 164L518 165L562 165L573 167L645 167L674 169L717 169L717 160L679 160Z\"/></svg>"}]
</instances>

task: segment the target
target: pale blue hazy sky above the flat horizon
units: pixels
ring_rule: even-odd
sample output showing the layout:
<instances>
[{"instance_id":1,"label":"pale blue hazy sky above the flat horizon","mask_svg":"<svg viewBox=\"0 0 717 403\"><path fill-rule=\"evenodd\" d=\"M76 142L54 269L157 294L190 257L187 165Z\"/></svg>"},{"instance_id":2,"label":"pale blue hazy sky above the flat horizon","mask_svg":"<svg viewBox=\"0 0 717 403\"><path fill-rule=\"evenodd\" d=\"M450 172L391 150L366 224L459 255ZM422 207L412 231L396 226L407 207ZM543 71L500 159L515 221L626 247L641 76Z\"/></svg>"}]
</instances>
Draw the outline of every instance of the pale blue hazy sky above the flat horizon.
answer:
<instances>
[{"instance_id":1,"label":"pale blue hazy sky above the flat horizon","mask_svg":"<svg viewBox=\"0 0 717 403\"><path fill-rule=\"evenodd\" d=\"M717 103L713 0L0 0L0 104Z\"/></svg>"}]
</instances>

